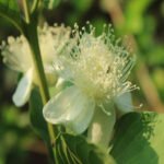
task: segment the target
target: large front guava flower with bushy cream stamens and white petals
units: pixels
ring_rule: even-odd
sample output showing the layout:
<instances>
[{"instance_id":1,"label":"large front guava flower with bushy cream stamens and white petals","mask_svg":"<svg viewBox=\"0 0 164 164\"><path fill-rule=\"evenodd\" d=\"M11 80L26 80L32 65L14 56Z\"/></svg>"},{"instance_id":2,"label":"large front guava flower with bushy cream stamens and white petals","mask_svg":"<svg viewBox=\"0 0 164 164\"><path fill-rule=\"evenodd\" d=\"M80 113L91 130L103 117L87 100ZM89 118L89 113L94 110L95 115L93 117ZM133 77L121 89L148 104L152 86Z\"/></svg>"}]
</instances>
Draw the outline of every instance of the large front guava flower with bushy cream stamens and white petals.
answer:
<instances>
[{"instance_id":1,"label":"large front guava flower with bushy cream stamens and white petals","mask_svg":"<svg viewBox=\"0 0 164 164\"><path fill-rule=\"evenodd\" d=\"M133 57L119 43L113 43L110 27L99 36L95 36L94 31L94 27L90 32L74 30L77 45L72 46L70 55L61 56L56 63L60 75L72 85L55 95L44 107L47 121L63 125L70 132L79 134L92 127L89 128L91 140L96 138L95 133L103 134L103 130L109 138L116 120L114 102L118 98L121 104L124 95L129 103L127 107L131 106L130 91L136 89L127 80L134 63ZM102 137L95 140L102 140Z\"/></svg>"}]
</instances>

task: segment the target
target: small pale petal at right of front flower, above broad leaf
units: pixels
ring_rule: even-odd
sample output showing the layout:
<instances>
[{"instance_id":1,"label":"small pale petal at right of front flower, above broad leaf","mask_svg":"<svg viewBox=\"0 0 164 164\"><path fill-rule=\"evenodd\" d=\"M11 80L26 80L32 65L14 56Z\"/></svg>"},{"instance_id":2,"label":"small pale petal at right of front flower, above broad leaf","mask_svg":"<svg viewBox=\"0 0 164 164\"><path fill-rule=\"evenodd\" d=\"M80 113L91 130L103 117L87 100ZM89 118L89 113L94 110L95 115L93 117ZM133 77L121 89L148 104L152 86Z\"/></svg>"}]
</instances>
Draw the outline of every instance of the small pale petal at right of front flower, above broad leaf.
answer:
<instances>
[{"instance_id":1,"label":"small pale petal at right of front flower, above broad leaf","mask_svg":"<svg viewBox=\"0 0 164 164\"><path fill-rule=\"evenodd\" d=\"M133 110L131 93L127 92L115 98L116 106L121 114L130 113Z\"/></svg>"}]
</instances>

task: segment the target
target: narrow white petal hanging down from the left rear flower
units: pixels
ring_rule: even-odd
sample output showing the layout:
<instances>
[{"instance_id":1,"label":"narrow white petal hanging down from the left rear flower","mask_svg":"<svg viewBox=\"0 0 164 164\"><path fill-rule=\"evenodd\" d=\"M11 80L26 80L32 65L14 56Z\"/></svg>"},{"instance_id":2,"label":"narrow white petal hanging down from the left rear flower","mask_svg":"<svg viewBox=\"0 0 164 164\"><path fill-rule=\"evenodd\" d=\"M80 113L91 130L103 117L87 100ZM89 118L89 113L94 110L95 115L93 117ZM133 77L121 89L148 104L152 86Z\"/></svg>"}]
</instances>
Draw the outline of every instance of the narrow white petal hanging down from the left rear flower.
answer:
<instances>
[{"instance_id":1,"label":"narrow white petal hanging down from the left rear flower","mask_svg":"<svg viewBox=\"0 0 164 164\"><path fill-rule=\"evenodd\" d=\"M13 94L13 102L16 106L23 106L30 98L33 84L33 69L30 69L19 82L17 89Z\"/></svg>"}]
</instances>

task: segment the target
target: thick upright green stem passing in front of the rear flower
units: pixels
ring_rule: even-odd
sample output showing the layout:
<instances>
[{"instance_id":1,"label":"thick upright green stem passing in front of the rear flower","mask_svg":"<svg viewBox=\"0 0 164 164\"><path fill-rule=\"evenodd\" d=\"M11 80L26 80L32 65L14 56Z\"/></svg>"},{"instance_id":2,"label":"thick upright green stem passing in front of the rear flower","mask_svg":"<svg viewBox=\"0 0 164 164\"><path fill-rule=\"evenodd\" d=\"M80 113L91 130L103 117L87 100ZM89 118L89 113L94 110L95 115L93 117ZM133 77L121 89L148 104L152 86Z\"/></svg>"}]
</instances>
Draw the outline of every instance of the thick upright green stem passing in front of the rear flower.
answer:
<instances>
[{"instance_id":1,"label":"thick upright green stem passing in front of the rear flower","mask_svg":"<svg viewBox=\"0 0 164 164\"><path fill-rule=\"evenodd\" d=\"M43 60L40 56L40 50L39 50L39 45L38 45L38 36L37 36L37 21L31 21L31 15L30 15L30 10L27 5L27 1L23 0L23 5L24 5L24 12L25 12L25 19L26 19L26 38L28 40L31 50L32 50L32 57L33 57L33 62L34 62L34 68L36 71L36 78L37 78L37 83L40 92L40 96L43 99L43 104L45 105L49 101L49 92L48 92L48 86L46 82L46 75L44 72L44 66L43 66ZM47 122L47 128L48 128L48 133L49 133L49 140L51 145L54 145L55 142L55 131L54 127L51 124ZM55 149L52 149L54 153L54 160L55 160Z\"/></svg>"}]
</instances>

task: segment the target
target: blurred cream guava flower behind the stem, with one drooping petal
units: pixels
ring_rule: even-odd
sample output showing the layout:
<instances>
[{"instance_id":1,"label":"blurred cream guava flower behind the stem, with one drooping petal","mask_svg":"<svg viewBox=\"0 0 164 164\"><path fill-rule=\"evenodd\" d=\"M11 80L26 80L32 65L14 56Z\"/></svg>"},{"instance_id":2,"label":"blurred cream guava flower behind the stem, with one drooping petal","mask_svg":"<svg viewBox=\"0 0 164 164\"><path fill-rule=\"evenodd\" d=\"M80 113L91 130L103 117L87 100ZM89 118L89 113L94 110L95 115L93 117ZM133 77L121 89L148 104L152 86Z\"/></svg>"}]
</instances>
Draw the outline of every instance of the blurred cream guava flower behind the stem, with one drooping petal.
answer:
<instances>
[{"instance_id":1,"label":"blurred cream guava flower behind the stem, with one drooping petal","mask_svg":"<svg viewBox=\"0 0 164 164\"><path fill-rule=\"evenodd\" d=\"M69 36L70 28L65 26L48 26L45 24L43 27L38 27L40 54L49 83L57 81L57 75L52 71L52 63L62 51ZM28 101L33 84L37 84L28 43L23 35L16 38L10 36L8 43L2 42L0 48L3 62L12 70L23 73L23 78L20 80L12 97L16 106L23 106Z\"/></svg>"}]
</instances>

